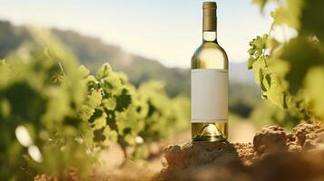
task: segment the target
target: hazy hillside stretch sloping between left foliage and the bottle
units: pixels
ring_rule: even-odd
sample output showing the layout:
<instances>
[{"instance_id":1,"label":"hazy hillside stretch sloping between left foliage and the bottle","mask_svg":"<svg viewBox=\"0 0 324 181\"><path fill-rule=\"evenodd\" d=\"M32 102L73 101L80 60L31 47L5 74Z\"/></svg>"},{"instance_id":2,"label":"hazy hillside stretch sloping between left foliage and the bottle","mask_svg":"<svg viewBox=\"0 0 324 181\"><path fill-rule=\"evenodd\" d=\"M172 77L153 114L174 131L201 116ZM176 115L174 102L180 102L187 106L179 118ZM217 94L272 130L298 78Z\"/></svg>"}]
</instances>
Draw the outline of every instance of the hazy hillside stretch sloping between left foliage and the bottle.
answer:
<instances>
[{"instance_id":1,"label":"hazy hillside stretch sloping between left foliage and the bottle","mask_svg":"<svg viewBox=\"0 0 324 181\"><path fill-rule=\"evenodd\" d=\"M114 70L125 72L135 86L150 79L162 80L166 82L166 90L171 96L178 93L189 95L189 70L167 68L160 62L125 52L118 46L73 31L53 29L52 32L91 71L97 70L103 62L109 62Z\"/></svg>"}]
</instances>

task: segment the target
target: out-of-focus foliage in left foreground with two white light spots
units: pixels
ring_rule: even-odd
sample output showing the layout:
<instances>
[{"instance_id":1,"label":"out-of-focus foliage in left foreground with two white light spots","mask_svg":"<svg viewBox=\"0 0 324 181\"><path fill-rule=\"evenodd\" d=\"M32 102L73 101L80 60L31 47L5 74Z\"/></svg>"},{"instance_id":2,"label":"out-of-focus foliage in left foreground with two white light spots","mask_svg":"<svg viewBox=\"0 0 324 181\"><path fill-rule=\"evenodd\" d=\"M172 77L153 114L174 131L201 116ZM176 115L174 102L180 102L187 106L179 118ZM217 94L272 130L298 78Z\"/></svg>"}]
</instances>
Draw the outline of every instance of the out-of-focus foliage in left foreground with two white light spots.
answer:
<instances>
[{"instance_id":1,"label":"out-of-focus foliage in left foreground with two white light spots","mask_svg":"<svg viewBox=\"0 0 324 181\"><path fill-rule=\"evenodd\" d=\"M40 38L40 45L45 41ZM52 42L56 43L54 39ZM18 49L0 64L5 82L0 87L0 175L4 180L26 179L35 170L62 176L66 167L78 167L85 174L91 163L84 145L74 139L83 127L77 110L85 86L74 71L77 66L73 56L62 53L56 44L43 50L21 47L25 54ZM22 127L27 135L17 129ZM34 156L37 152L41 154Z\"/></svg>"}]
</instances>

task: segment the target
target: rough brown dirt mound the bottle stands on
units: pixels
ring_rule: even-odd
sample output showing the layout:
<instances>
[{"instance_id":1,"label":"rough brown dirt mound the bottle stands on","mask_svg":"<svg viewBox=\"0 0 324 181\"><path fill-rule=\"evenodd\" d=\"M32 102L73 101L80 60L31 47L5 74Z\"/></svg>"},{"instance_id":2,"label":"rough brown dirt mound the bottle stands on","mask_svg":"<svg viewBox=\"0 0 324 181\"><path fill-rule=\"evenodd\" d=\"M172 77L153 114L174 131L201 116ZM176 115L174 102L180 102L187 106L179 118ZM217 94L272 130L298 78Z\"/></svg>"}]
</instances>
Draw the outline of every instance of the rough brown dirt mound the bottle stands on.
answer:
<instances>
[{"instance_id":1,"label":"rough brown dirt mound the bottle stands on","mask_svg":"<svg viewBox=\"0 0 324 181\"><path fill-rule=\"evenodd\" d=\"M276 126L253 143L187 142L164 150L166 167L152 180L324 180L324 126Z\"/></svg>"}]
</instances>

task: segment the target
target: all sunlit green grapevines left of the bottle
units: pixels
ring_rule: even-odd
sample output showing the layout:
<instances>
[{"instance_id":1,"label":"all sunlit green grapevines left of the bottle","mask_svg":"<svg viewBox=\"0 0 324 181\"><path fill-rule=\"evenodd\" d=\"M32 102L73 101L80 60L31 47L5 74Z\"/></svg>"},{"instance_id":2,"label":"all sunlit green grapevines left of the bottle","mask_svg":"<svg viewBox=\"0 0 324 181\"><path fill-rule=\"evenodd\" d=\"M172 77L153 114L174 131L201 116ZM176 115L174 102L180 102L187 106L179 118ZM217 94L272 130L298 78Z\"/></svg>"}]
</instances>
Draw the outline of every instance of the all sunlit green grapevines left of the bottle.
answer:
<instances>
[{"instance_id":1,"label":"all sunlit green grapevines left of the bottle","mask_svg":"<svg viewBox=\"0 0 324 181\"><path fill-rule=\"evenodd\" d=\"M62 179L70 168L86 179L110 143L145 158L147 144L187 126L189 100L169 98L162 82L135 88L108 63L92 75L50 33L29 31L35 41L0 61L1 180Z\"/></svg>"}]
</instances>

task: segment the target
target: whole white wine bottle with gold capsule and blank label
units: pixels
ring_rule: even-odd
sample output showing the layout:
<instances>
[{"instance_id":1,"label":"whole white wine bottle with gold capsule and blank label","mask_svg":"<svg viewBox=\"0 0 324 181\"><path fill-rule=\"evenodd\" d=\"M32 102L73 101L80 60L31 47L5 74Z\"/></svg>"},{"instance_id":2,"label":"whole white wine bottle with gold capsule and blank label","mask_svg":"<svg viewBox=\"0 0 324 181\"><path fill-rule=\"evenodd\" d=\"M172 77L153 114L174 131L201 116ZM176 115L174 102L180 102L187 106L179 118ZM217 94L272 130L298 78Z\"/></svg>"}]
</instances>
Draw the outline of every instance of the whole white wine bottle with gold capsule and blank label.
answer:
<instances>
[{"instance_id":1,"label":"whole white wine bottle with gold capsule and blank label","mask_svg":"<svg viewBox=\"0 0 324 181\"><path fill-rule=\"evenodd\" d=\"M228 138L229 61L217 43L215 2L203 3L202 44L191 58L191 138Z\"/></svg>"}]
</instances>

